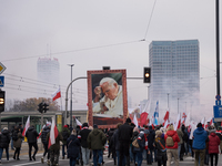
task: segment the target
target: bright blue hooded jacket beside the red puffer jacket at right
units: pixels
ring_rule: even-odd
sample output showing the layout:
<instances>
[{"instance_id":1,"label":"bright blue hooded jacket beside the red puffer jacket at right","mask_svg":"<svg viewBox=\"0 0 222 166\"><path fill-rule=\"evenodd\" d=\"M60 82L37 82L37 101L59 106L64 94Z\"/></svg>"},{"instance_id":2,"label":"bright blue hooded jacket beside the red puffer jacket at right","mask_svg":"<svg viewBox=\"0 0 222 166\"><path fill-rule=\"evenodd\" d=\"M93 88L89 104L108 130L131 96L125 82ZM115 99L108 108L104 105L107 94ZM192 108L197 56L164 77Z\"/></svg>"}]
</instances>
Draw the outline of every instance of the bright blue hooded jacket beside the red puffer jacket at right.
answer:
<instances>
[{"instance_id":1,"label":"bright blue hooded jacket beside the red puffer jacket at right","mask_svg":"<svg viewBox=\"0 0 222 166\"><path fill-rule=\"evenodd\" d=\"M208 132L203 127L198 127L193 132L193 148L205 149L205 141L208 138Z\"/></svg>"}]
</instances>

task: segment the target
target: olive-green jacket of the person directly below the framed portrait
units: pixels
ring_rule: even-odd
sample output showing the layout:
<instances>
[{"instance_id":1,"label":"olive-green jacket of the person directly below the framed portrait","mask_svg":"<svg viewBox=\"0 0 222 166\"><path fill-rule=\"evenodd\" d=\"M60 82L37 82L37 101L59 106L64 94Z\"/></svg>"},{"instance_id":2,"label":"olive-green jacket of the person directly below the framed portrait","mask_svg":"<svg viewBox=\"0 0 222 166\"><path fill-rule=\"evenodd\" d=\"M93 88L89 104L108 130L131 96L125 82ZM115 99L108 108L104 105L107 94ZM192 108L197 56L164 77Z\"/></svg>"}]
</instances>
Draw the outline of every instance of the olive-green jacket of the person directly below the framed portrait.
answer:
<instances>
[{"instance_id":1,"label":"olive-green jacket of the person directly below the framed portrait","mask_svg":"<svg viewBox=\"0 0 222 166\"><path fill-rule=\"evenodd\" d=\"M88 136L88 145L91 149L103 149L107 142L107 136L102 131L94 128Z\"/></svg>"}]
</instances>

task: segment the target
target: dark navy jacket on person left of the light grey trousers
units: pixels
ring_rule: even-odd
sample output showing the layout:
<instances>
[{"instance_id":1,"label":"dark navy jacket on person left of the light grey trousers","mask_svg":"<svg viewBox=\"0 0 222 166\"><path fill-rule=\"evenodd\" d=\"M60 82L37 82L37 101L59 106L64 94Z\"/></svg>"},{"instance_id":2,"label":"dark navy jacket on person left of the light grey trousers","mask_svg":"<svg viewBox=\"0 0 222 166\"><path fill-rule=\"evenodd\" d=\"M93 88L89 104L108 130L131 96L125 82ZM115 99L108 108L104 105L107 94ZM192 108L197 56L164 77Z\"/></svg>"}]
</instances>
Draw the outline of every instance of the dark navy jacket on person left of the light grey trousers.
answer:
<instances>
[{"instance_id":1,"label":"dark navy jacket on person left of the light grey trousers","mask_svg":"<svg viewBox=\"0 0 222 166\"><path fill-rule=\"evenodd\" d=\"M69 158L77 158L80 152L80 141L78 139L77 135L70 135L67 139L68 145L68 157Z\"/></svg>"}]
</instances>

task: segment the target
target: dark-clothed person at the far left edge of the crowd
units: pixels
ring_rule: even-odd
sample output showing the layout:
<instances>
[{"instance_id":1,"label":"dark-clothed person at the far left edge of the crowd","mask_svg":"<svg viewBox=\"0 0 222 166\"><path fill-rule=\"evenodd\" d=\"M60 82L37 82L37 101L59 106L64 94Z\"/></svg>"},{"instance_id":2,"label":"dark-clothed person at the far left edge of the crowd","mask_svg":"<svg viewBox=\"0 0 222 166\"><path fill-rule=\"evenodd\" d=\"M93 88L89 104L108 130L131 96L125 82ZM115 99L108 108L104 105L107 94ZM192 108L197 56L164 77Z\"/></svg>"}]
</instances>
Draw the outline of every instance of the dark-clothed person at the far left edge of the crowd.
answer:
<instances>
[{"instance_id":1,"label":"dark-clothed person at the far left edge of the crowd","mask_svg":"<svg viewBox=\"0 0 222 166\"><path fill-rule=\"evenodd\" d=\"M7 160L9 160L9 143L10 143L10 132L7 127L4 127L0 134L0 163L3 149L6 149L7 153Z\"/></svg>"}]
</instances>

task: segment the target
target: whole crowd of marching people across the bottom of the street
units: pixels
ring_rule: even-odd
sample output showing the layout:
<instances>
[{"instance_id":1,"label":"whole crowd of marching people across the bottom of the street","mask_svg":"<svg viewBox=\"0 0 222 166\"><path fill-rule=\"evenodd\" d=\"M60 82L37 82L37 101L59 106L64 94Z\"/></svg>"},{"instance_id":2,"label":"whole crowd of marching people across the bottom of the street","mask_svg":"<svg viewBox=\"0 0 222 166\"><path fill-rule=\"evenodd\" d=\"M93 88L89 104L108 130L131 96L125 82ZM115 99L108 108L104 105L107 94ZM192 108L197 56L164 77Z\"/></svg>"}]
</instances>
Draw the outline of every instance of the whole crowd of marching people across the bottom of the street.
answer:
<instances>
[{"instance_id":1,"label":"whole crowd of marching people across the bottom of the street","mask_svg":"<svg viewBox=\"0 0 222 166\"><path fill-rule=\"evenodd\" d=\"M43 164L47 157L47 164L51 166L59 165L60 146L62 146L62 159L69 158L70 166L91 165L90 158L93 160L93 166L103 165L105 144L109 144L108 157L112 157L114 165L118 166L130 166L130 164L141 166L143 160L147 165L157 162L158 166L170 166L172 158L175 166L179 166L179 160L182 162L184 155L192 156L195 166L209 163L213 166L214 160L214 165L218 165L219 154L222 153L221 132L215 131L213 126L204 129L201 123L192 131L192 135L191 129L184 125L179 129L174 129L172 124L168 128L161 125L137 127L130 118L110 129L98 128L97 124L89 126L88 123L77 128L64 125L58 133L56 143L49 147L50 129L51 124L48 123L41 136L34 126L30 126L26 132L30 162L36 160L39 136L44 148L41 163ZM11 131L7 127L1 131L0 162L3 149L9 160L10 142L11 148L14 149L13 159L20 160L21 144L24 138L22 131L21 124ZM33 154L32 147L34 147Z\"/></svg>"}]
</instances>

